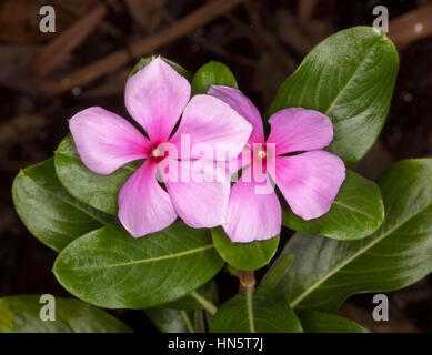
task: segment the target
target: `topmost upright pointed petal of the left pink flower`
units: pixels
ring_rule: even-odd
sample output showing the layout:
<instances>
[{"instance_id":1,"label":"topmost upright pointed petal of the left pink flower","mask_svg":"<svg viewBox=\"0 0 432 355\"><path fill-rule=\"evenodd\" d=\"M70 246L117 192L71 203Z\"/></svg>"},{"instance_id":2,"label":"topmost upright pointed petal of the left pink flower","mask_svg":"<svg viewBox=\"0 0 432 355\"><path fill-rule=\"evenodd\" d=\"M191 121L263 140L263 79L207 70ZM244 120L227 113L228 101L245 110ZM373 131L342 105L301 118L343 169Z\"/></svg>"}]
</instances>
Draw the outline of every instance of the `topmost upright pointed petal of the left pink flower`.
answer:
<instances>
[{"instance_id":1,"label":"topmost upright pointed petal of the left pink flower","mask_svg":"<svg viewBox=\"0 0 432 355\"><path fill-rule=\"evenodd\" d=\"M190 92L188 80L157 58L128 80L124 102L130 115L157 145L169 139Z\"/></svg>"}]
</instances>

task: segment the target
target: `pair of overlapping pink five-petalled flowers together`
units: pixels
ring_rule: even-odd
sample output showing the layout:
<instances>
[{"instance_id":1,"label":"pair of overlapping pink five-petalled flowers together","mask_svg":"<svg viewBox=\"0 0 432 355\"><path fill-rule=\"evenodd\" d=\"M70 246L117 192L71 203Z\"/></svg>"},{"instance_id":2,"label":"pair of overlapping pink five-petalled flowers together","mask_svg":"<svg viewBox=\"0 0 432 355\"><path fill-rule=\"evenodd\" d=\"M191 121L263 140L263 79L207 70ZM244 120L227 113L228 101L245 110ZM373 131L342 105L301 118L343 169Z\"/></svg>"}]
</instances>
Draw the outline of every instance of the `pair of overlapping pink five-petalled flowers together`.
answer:
<instances>
[{"instance_id":1,"label":"pair of overlapping pink five-petalled flowers together","mask_svg":"<svg viewBox=\"0 0 432 355\"><path fill-rule=\"evenodd\" d=\"M274 185L304 220L330 210L345 172L336 155L322 150L333 139L329 118L281 110L269 119L265 140L261 115L239 90L212 87L191 99L190 92L189 82L157 58L128 80L124 93L147 135L101 108L69 121L78 153L94 173L144 160L118 199L130 234L163 230L179 216L192 227L222 225L233 242L273 237L282 217Z\"/></svg>"}]
</instances>

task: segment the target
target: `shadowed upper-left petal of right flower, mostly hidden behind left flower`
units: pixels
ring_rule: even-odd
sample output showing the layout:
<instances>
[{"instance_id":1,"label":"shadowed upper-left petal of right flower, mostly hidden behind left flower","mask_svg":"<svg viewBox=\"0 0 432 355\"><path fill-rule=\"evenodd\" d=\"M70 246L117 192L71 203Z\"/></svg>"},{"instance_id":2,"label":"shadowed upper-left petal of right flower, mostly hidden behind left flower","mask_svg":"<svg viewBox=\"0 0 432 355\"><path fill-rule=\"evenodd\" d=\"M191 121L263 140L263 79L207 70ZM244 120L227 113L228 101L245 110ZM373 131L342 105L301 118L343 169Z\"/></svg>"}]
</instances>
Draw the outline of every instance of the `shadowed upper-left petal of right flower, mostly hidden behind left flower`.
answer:
<instances>
[{"instance_id":1,"label":"shadowed upper-left petal of right flower, mostly hidden behind left flower","mask_svg":"<svg viewBox=\"0 0 432 355\"><path fill-rule=\"evenodd\" d=\"M264 143L264 129L262 125L261 114L252 103L240 90L230 87L214 85L211 87L209 95L221 99L233 108L241 116L247 119L253 126L249 144Z\"/></svg>"}]
</instances>

